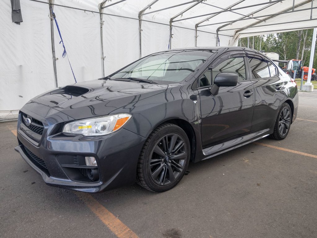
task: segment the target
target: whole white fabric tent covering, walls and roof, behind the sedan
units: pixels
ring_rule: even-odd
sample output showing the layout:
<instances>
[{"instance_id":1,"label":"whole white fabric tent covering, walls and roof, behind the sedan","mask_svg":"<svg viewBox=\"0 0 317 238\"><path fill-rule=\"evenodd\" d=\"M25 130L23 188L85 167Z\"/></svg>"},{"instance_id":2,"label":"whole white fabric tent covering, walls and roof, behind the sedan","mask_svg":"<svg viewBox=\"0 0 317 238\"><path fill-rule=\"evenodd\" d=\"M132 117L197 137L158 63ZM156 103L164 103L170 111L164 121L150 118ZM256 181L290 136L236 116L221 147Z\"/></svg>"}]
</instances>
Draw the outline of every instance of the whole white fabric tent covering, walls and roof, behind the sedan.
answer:
<instances>
[{"instance_id":1,"label":"whole white fabric tent covering, walls and roof, behind the sedan","mask_svg":"<svg viewBox=\"0 0 317 238\"><path fill-rule=\"evenodd\" d=\"M77 82L168 48L234 46L239 37L317 27L313 0L21 0L21 25L12 23L10 1L5 1L0 120L54 88L55 81L74 83L50 6Z\"/></svg>"}]
</instances>

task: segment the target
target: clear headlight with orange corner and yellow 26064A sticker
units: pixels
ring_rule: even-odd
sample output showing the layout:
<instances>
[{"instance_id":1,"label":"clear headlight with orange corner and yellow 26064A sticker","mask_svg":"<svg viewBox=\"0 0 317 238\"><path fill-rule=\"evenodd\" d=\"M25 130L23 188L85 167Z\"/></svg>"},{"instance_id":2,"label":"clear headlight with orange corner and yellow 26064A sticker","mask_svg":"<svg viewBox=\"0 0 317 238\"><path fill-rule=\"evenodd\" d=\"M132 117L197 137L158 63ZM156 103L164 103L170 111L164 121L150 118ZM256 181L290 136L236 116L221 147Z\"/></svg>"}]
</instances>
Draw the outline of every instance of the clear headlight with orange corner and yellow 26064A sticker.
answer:
<instances>
[{"instance_id":1,"label":"clear headlight with orange corner and yellow 26064A sticker","mask_svg":"<svg viewBox=\"0 0 317 238\"><path fill-rule=\"evenodd\" d=\"M64 125L64 133L82 134L84 136L102 136L120 129L132 117L128 113L119 113L105 117L79 120Z\"/></svg>"}]
</instances>

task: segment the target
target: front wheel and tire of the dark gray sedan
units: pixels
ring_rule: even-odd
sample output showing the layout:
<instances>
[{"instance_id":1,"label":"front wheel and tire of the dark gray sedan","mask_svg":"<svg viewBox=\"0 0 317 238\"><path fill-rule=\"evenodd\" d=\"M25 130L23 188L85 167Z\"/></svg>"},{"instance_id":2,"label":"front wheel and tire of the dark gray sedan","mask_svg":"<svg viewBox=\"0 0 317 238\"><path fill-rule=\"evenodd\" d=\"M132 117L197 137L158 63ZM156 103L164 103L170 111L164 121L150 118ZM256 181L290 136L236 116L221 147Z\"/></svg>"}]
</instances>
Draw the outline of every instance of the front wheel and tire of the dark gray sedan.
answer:
<instances>
[{"instance_id":1,"label":"front wheel and tire of the dark gray sedan","mask_svg":"<svg viewBox=\"0 0 317 238\"><path fill-rule=\"evenodd\" d=\"M136 182L152 192L175 187L184 176L191 148L186 133L177 125L159 125L141 150Z\"/></svg>"}]
</instances>

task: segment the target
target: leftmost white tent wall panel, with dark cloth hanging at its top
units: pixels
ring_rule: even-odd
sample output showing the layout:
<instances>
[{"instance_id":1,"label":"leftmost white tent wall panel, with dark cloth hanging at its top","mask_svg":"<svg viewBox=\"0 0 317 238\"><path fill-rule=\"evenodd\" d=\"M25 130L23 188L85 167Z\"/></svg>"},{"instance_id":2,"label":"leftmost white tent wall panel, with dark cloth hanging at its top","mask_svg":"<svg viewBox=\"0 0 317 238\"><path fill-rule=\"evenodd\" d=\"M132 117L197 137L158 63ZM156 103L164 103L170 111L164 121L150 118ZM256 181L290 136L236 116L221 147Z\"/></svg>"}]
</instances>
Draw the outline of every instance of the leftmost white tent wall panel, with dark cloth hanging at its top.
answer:
<instances>
[{"instance_id":1,"label":"leftmost white tent wall panel, with dark cloth hanging at its top","mask_svg":"<svg viewBox=\"0 0 317 238\"><path fill-rule=\"evenodd\" d=\"M0 119L54 88L48 5L21 1L21 9L23 23L16 25L10 1L1 3Z\"/></svg>"}]
</instances>

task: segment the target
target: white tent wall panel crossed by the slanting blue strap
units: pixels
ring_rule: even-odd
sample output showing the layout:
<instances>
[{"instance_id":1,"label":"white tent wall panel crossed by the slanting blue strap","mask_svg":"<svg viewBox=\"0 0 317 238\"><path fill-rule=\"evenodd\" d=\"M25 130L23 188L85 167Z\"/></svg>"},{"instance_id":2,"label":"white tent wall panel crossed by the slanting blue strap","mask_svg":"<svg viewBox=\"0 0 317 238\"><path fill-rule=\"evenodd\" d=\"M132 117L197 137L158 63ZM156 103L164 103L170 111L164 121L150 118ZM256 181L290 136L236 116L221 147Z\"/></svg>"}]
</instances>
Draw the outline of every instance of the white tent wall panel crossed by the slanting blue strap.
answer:
<instances>
[{"instance_id":1,"label":"white tent wall panel crossed by the slanting blue strap","mask_svg":"<svg viewBox=\"0 0 317 238\"><path fill-rule=\"evenodd\" d=\"M43 4L44 5L44 4ZM49 5L45 6L49 8ZM61 36L72 65L77 82L101 77L100 16L60 6L54 6L54 13ZM55 57L58 86L75 82L67 56L62 57L64 48L54 23Z\"/></svg>"}]
</instances>

